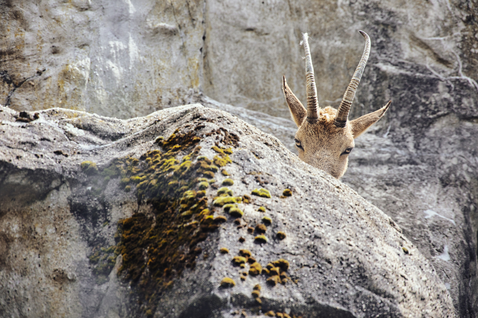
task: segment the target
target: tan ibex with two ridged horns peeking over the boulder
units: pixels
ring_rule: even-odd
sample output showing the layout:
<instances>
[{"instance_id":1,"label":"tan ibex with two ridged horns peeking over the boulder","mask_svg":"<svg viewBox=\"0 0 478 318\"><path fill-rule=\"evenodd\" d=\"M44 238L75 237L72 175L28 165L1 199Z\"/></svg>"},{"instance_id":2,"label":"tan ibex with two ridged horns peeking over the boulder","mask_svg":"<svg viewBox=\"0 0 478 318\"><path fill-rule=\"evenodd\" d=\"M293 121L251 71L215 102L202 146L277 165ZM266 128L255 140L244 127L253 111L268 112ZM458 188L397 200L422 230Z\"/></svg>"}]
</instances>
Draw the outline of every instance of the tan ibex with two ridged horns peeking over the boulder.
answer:
<instances>
[{"instance_id":1,"label":"tan ibex with two ridged horns peeking over the boulder","mask_svg":"<svg viewBox=\"0 0 478 318\"><path fill-rule=\"evenodd\" d=\"M390 101L373 113L352 121L348 120L348 112L370 53L369 36L364 31L359 32L365 38L365 49L338 110L330 106L324 109L317 108L317 89L315 88L314 67L310 57L307 33L304 33L302 37L305 48L307 110L287 85L285 76L282 82L285 100L298 127L297 133L295 133L295 145L299 152L299 158L337 179L341 178L347 170L348 154L355 146L354 138L377 122L391 104Z\"/></svg>"}]
</instances>

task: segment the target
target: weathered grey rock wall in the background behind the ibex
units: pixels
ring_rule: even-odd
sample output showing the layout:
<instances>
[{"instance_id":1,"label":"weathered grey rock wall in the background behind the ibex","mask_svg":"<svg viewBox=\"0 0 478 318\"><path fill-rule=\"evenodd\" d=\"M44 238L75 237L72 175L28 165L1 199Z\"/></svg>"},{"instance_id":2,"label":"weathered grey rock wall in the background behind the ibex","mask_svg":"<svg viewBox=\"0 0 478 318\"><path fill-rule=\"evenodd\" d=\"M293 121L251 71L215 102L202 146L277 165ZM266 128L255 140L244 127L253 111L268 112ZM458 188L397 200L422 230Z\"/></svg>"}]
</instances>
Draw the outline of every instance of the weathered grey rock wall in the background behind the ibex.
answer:
<instances>
[{"instance_id":1,"label":"weathered grey rock wall in the background behind the ibex","mask_svg":"<svg viewBox=\"0 0 478 318\"><path fill-rule=\"evenodd\" d=\"M319 105L336 106L364 30L371 53L350 119L392 105L356 141L343 181L418 246L458 315L476 317L476 12L464 0L3 1L0 103L130 118L201 102L292 150L281 79L305 102L301 32Z\"/></svg>"}]
</instances>

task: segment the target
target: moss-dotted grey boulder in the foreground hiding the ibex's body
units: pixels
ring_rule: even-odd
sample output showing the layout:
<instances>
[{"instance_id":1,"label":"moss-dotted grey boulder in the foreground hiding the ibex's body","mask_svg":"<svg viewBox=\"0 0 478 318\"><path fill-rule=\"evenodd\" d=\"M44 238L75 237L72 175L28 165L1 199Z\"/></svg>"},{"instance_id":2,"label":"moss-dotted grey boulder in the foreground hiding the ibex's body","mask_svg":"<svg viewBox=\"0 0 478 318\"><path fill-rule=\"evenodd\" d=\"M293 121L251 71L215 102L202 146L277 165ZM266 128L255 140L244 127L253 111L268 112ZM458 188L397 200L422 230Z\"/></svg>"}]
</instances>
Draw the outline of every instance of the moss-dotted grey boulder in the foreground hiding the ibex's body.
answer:
<instances>
[{"instance_id":1,"label":"moss-dotted grey boulder in the foreground hiding the ibex's body","mask_svg":"<svg viewBox=\"0 0 478 318\"><path fill-rule=\"evenodd\" d=\"M2 317L456 317L389 216L228 113L0 119Z\"/></svg>"}]
</instances>

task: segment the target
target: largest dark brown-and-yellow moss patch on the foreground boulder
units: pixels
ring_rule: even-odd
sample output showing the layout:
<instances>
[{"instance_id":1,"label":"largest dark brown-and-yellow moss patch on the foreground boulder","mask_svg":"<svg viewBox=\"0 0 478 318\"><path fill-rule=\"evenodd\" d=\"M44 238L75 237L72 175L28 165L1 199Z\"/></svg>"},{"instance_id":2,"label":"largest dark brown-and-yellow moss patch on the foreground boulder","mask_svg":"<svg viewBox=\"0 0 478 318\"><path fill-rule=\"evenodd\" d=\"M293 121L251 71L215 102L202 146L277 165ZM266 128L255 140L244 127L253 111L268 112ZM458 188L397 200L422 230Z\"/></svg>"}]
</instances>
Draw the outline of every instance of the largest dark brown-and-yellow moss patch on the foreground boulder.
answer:
<instances>
[{"instance_id":1,"label":"largest dark brown-and-yellow moss patch on the foreground boulder","mask_svg":"<svg viewBox=\"0 0 478 318\"><path fill-rule=\"evenodd\" d=\"M141 305L145 312L155 311L160 295L172 287L174 277L185 268L195 268L196 257L203 253L197 244L216 230L218 223L226 221L224 216L212 216L214 210L208 208L205 191L223 162L216 164L199 156L199 141L194 131L176 130L167 139L156 140L162 150L148 151L139 159L118 159L104 169L110 177L120 177L125 191L135 187L139 202L152 206L151 215L137 213L120 220L117 234L117 253L123 256L118 274L146 300ZM223 152L219 156L227 164L230 159ZM232 203L242 200L227 190L223 195L219 198L228 197ZM235 285L234 281L228 284Z\"/></svg>"}]
</instances>

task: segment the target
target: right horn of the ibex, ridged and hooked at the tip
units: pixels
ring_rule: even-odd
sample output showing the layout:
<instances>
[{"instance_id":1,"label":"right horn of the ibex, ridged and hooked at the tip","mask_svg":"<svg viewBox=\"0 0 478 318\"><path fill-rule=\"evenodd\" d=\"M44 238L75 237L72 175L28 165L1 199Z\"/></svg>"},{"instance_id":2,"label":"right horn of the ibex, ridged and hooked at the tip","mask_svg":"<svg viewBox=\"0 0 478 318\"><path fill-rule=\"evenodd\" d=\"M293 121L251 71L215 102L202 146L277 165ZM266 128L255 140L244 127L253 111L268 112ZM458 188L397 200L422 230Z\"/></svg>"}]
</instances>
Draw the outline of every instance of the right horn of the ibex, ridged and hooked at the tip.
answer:
<instances>
[{"instance_id":1,"label":"right horn of the ibex, ridged and hooked at the tip","mask_svg":"<svg viewBox=\"0 0 478 318\"><path fill-rule=\"evenodd\" d=\"M352 80L347 86L342 102L338 107L337 115L335 116L335 124L337 127L345 127L348 119L348 112L350 111L350 106L355 97L355 92L359 86L360 78L362 77L363 70L365 69L365 64L369 59L370 54L370 38L364 31L359 31L360 34L365 38L365 49L363 50L362 58L360 59L359 66L355 70Z\"/></svg>"}]
</instances>

